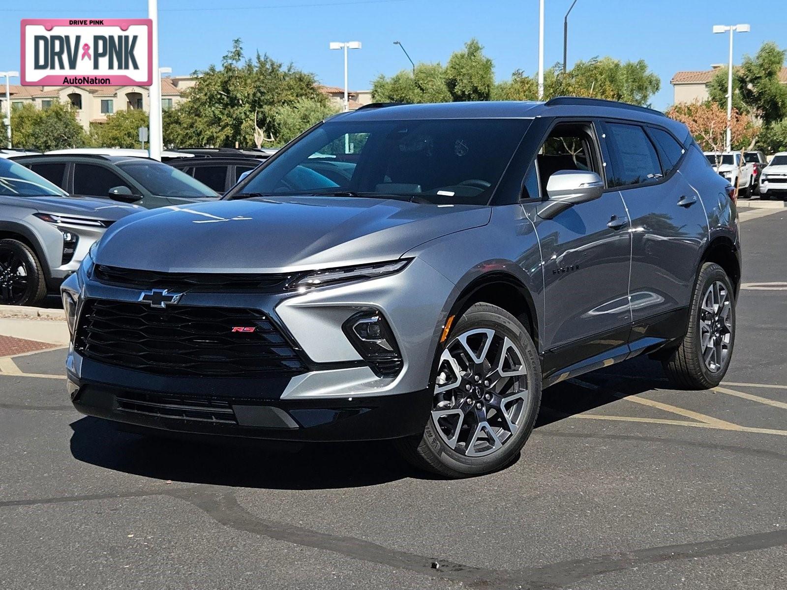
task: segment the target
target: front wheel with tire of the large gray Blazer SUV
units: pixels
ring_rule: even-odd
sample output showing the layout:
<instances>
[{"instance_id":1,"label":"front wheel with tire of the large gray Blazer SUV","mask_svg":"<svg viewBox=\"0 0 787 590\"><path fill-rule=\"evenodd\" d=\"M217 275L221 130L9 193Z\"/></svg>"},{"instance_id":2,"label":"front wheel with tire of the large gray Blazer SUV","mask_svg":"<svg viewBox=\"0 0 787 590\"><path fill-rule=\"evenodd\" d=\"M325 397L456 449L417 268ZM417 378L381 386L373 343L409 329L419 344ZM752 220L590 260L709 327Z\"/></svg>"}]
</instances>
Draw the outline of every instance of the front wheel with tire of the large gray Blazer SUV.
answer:
<instances>
[{"instance_id":1,"label":"front wheel with tire of the large gray Blazer SUV","mask_svg":"<svg viewBox=\"0 0 787 590\"><path fill-rule=\"evenodd\" d=\"M538 352L513 315L474 304L438 347L430 389L433 410L423 434L396 441L401 455L445 478L500 470L519 458L538 416Z\"/></svg>"}]
</instances>

